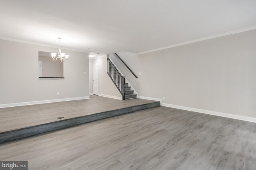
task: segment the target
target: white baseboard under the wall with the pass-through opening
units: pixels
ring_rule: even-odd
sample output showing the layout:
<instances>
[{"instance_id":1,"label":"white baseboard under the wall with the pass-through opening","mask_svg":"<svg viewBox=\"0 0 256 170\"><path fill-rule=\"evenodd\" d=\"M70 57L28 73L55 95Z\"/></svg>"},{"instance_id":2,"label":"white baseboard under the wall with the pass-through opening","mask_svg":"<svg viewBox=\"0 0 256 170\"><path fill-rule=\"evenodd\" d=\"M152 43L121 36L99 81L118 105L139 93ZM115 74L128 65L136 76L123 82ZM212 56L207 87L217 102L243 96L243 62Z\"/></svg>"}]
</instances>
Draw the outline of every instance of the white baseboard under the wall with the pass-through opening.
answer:
<instances>
[{"instance_id":1,"label":"white baseboard under the wall with the pass-through opening","mask_svg":"<svg viewBox=\"0 0 256 170\"><path fill-rule=\"evenodd\" d=\"M41 100L41 101L34 101L34 102L0 104L0 108L16 107L16 106L27 106L27 105L45 104L45 103L55 103L55 102L64 102L64 101L71 101L71 100L84 100L84 99L90 99L90 97L89 96L84 96L84 97L78 97L78 98L65 98L65 99L54 99L54 100Z\"/></svg>"}]
</instances>

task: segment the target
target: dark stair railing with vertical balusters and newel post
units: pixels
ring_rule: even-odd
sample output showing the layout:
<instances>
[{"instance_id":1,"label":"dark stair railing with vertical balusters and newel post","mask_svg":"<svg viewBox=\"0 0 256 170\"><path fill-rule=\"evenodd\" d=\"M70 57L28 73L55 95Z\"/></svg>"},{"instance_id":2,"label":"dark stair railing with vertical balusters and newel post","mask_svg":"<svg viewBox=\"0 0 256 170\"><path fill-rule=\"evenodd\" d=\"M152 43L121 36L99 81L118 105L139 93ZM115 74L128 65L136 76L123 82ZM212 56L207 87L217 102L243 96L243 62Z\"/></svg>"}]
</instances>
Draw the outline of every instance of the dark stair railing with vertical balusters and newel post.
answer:
<instances>
[{"instance_id":1,"label":"dark stair railing with vertical balusters and newel post","mask_svg":"<svg viewBox=\"0 0 256 170\"><path fill-rule=\"evenodd\" d=\"M112 82L116 85L118 91L122 95L122 100L125 100L125 77L120 74L120 72L117 70L116 66L114 66L113 62L108 58L108 76L112 80Z\"/></svg>"}]
</instances>

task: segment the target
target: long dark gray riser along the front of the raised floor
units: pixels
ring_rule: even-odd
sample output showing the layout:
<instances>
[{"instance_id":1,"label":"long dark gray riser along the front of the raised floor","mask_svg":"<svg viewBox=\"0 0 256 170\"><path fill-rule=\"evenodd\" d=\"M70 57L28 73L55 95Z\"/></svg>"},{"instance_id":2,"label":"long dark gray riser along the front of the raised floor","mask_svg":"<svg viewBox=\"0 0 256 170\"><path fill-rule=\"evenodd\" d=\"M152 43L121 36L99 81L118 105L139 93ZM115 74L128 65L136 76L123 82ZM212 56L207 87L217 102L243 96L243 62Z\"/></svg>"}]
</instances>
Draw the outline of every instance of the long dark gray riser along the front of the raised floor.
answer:
<instances>
[{"instance_id":1,"label":"long dark gray riser along the front of the raised floor","mask_svg":"<svg viewBox=\"0 0 256 170\"><path fill-rule=\"evenodd\" d=\"M21 139L24 137L29 137L29 136L33 136L33 135L37 135L37 134L45 133L45 132L49 132L49 131L54 131L54 130L58 130L58 129L64 129L64 128L72 127L75 125L80 125L82 123L95 121L95 120L99 120L99 119L104 119L107 117L113 117L116 115L132 113L134 111L148 109L148 108L157 107L157 106L160 106L159 102L152 102L150 104L126 107L123 109L105 111L105 112L96 113L93 115L75 117L73 119L65 119L62 121L56 121L56 122L52 122L52 123L22 128L22 129L18 129L18 130L14 130L14 131L7 131L4 133L0 133L0 143L12 141L15 139Z\"/></svg>"}]
</instances>

